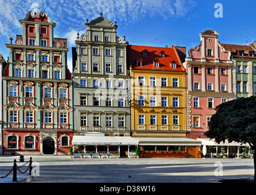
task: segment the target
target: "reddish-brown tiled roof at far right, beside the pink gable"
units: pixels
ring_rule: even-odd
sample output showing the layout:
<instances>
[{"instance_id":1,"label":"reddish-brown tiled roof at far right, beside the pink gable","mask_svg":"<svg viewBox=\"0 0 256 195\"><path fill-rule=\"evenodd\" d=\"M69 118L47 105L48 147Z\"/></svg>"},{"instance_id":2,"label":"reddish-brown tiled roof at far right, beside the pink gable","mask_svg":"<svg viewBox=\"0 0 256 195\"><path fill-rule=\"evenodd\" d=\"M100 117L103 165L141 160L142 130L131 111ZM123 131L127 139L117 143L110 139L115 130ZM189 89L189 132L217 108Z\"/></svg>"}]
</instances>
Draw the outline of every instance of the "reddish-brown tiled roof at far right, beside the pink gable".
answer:
<instances>
[{"instance_id":1,"label":"reddish-brown tiled roof at far right, beside the pink gable","mask_svg":"<svg viewBox=\"0 0 256 195\"><path fill-rule=\"evenodd\" d=\"M247 58L255 58L256 57L256 51L250 45L225 44L225 43L221 43L221 44L224 47L224 49L230 51L234 57L247 57ZM243 52L243 56L239 55L240 51ZM254 57L250 57L249 52L254 52Z\"/></svg>"}]
</instances>

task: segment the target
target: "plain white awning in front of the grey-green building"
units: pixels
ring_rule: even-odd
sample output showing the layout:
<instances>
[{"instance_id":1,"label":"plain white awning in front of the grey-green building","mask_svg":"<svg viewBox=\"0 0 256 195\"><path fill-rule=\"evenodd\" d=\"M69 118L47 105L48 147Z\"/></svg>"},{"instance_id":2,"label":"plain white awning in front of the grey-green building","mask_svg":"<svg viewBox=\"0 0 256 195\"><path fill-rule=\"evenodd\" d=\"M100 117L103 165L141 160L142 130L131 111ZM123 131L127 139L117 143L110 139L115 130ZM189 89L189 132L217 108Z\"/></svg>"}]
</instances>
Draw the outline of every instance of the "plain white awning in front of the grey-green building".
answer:
<instances>
[{"instance_id":1,"label":"plain white awning in front of the grey-green building","mask_svg":"<svg viewBox=\"0 0 256 195\"><path fill-rule=\"evenodd\" d=\"M138 141L132 137L112 137L112 136L79 136L74 135L72 144L75 145L137 145Z\"/></svg>"}]
</instances>

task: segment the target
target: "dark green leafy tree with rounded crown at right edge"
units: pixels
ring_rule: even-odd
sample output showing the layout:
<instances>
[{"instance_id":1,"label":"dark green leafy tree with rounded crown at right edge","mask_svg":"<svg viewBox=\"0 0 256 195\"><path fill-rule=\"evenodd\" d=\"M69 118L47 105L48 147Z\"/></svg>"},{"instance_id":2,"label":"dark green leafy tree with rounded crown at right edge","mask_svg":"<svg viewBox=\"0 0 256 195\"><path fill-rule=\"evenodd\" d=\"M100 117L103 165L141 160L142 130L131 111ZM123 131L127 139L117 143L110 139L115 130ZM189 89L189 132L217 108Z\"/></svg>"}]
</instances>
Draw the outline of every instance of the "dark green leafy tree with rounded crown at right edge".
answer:
<instances>
[{"instance_id":1,"label":"dark green leafy tree with rounded crown at right edge","mask_svg":"<svg viewBox=\"0 0 256 195\"><path fill-rule=\"evenodd\" d=\"M238 98L216 106L211 116L207 137L217 143L248 143L256 151L256 96ZM256 181L256 159L254 154L254 182Z\"/></svg>"}]
</instances>

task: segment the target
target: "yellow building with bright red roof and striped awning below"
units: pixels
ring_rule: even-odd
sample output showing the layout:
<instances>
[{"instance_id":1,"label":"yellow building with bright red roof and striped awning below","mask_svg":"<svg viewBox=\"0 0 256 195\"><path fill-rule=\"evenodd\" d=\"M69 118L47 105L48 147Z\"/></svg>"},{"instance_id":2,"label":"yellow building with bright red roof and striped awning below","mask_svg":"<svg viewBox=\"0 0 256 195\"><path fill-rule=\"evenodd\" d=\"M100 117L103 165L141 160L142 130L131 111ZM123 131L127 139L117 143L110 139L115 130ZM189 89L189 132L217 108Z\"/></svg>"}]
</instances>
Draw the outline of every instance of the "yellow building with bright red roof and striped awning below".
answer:
<instances>
[{"instance_id":1,"label":"yellow building with bright red roof and striped awning below","mask_svg":"<svg viewBox=\"0 0 256 195\"><path fill-rule=\"evenodd\" d=\"M186 70L177 49L130 45L128 52L131 135L140 149L187 151L187 146L200 146L186 138Z\"/></svg>"}]
</instances>

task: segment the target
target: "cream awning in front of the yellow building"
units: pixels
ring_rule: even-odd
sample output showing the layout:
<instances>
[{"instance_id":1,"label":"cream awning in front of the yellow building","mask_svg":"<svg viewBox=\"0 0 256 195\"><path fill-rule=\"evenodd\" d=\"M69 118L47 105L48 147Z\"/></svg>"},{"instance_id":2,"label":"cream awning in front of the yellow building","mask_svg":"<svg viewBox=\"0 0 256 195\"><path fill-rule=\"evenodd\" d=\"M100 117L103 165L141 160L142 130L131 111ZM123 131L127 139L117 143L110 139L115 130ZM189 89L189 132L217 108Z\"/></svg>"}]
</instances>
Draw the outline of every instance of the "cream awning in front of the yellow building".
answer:
<instances>
[{"instance_id":1,"label":"cream awning in front of the yellow building","mask_svg":"<svg viewBox=\"0 0 256 195\"><path fill-rule=\"evenodd\" d=\"M137 138L140 146L201 146L201 141L189 138Z\"/></svg>"}]
</instances>

